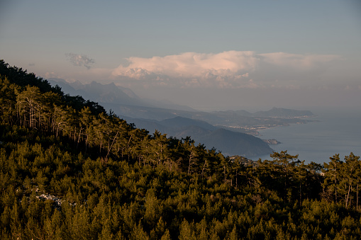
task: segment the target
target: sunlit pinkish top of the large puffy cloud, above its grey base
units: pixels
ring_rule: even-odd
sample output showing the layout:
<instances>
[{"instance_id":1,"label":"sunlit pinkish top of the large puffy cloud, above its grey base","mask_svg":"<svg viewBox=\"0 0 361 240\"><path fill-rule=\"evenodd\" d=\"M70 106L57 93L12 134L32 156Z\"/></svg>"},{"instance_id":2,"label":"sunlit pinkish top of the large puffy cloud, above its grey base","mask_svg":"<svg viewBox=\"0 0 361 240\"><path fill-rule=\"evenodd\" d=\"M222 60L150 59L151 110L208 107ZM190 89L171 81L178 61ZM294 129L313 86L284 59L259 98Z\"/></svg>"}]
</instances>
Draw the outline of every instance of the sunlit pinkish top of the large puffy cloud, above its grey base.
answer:
<instances>
[{"instance_id":1,"label":"sunlit pinkish top of the large puffy cloud, above its grey base","mask_svg":"<svg viewBox=\"0 0 361 240\"><path fill-rule=\"evenodd\" d=\"M128 67L120 66L115 74L129 74L137 72L145 74L166 74L173 77L205 76L206 74L229 75L242 69L255 67L257 59L253 52L221 52L218 54L201 54L185 52L181 55L165 57L130 57ZM129 72L130 70L130 72Z\"/></svg>"}]
</instances>

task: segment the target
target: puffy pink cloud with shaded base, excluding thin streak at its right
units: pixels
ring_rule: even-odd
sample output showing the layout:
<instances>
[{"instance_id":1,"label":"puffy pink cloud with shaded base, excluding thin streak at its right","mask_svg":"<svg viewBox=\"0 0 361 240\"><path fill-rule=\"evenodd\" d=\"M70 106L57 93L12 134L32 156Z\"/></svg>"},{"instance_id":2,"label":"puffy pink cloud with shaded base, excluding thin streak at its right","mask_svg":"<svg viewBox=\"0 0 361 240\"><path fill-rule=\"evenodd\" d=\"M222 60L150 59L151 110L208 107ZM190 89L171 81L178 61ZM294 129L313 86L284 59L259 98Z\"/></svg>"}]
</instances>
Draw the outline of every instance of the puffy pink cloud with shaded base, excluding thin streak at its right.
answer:
<instances>
[{"instance_id":1,"label":"puffy pink cloud with shaded base, excluding thin streak at its right","mask_svg":"<svg viewBox=\"0 0 361 240\"><path fill-rule=\"evenodd\" d=\"M128 66L120 65L113 76L154 81L155 84L192 86L235 86L249 76L259 59L254 52L203 54L184 52L165 57L129 57Z\"/></svg>"}]
</instances>

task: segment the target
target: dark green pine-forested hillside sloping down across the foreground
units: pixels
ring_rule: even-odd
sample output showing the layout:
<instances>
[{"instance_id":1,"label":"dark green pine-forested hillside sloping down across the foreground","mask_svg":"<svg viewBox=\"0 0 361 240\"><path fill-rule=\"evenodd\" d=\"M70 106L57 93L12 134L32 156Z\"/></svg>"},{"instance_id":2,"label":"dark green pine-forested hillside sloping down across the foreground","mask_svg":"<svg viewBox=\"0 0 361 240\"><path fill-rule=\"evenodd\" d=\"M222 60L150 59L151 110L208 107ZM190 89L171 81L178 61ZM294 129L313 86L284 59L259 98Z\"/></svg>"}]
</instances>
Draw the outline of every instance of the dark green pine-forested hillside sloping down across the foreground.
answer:
<instances>
[{"instance_id":1,"label":"dark green pine-forested hillside sloping down across the foreground","mask_svg":"<svg viewBox=\"0 0 361 240\"><path fill-rule=\"evenodd\" d=\"M225 157L0 61L1 239L360 239L360 157Z\"/></svg>"}]
</instances>

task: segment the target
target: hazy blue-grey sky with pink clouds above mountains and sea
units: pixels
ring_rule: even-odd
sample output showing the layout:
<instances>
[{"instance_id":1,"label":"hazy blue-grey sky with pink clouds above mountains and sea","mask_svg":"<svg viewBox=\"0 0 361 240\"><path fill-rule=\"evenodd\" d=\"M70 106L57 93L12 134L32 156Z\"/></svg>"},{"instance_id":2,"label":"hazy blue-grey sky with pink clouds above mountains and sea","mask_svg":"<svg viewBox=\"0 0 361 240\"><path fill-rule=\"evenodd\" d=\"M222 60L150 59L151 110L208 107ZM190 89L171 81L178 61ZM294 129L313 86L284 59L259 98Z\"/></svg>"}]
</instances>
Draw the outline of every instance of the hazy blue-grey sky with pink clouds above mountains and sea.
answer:
<instances>
[{"instance_id":1,"label":"hazy blue-grey sky with pink clouds above mountains and sea","mask_svg":"<svg viewBox=\"0 0 361 240\"><path fill-rule=\"evenodd\" d=\"M361 1L0 0L0 59L198 110L361 107Z\"/></svg>"}]
</instances>

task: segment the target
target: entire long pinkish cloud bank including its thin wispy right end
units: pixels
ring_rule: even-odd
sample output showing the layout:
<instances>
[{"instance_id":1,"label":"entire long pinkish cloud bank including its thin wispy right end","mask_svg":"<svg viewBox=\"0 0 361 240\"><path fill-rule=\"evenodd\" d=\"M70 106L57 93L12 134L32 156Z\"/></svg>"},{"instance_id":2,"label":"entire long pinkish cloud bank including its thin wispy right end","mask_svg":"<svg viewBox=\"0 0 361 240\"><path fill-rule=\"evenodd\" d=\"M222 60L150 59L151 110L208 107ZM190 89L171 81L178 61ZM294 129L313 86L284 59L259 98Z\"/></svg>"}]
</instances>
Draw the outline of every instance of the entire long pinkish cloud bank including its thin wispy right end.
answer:
<instances>
[{"instance_id":1,"label":"entire long pinkish cloud bank including its thin wispy right end","mask_svg":"<svg viewBox=\"0 0 361 240\"><path fill-rule=\"evenodd\" d=\"M335 55L295 55L286 52L184 52L165 57L129 57L128 66L120 65L112 75L123 80L142 80L148 86L257 88L268 86L267 79L252 77L260 76L258 72L265 75L270 68L270 72L281 75L282 69L285 73L310 72L324 68L337 58Z\"/></svg>"}]
</instances>

